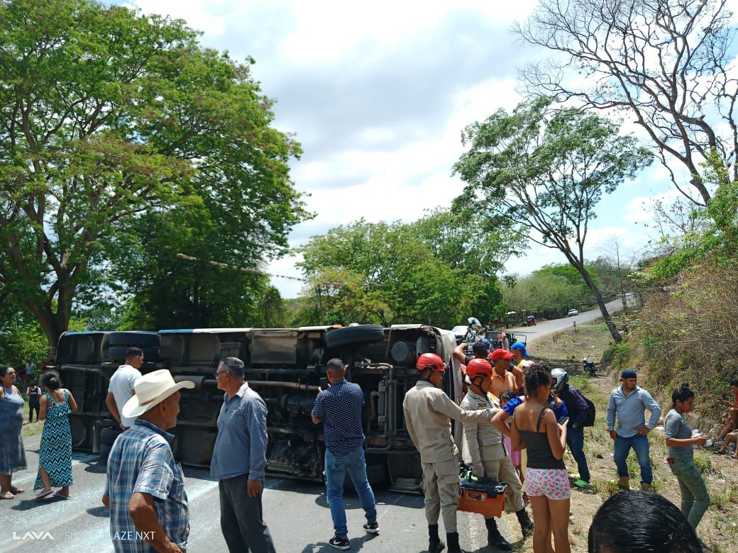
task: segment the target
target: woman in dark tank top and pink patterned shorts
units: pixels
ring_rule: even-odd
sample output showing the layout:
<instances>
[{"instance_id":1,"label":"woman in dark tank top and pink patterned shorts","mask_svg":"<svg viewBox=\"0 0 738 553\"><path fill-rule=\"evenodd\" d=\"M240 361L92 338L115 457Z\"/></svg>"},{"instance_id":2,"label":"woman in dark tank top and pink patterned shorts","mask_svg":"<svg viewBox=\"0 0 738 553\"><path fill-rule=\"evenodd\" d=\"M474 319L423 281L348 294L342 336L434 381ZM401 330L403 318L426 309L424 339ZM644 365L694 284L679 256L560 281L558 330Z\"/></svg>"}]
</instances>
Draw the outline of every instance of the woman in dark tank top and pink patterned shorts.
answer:
<instances>
[{"instance_id":1,"label":"woman in dark tank top and pink patterned shorts","mask_svg":"<svg viewBox=\"0 0 738 553\"><path fill-rule=\"evenodd\" d=\"M525 375L528 400L513 414L512 448L528 451L525 481L533 507L533 551L569 553L569 476L563 457L566 451L566 421L556 422L548 406L551 375L545 367L533 364ZM554 549L551 549L551 532Z\"/></svg>"}]
</instances>

